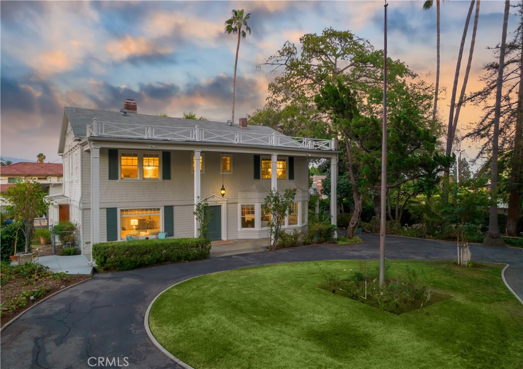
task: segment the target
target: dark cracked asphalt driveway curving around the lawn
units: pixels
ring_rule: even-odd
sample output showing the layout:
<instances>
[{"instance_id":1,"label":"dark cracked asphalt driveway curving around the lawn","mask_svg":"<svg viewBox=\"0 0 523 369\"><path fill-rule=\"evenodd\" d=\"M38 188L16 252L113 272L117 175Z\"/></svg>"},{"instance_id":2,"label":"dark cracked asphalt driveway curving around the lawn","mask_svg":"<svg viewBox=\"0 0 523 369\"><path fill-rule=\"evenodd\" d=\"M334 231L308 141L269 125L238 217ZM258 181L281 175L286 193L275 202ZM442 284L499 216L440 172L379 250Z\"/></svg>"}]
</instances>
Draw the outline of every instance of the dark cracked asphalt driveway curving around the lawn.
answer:
<instances>
[{"instance_id":1,"label":"dark cracked asphalt driveway curving around the lawn","mask_svg":"<svg viewBox=\"0 0 523 369\"><path fill-rule=\"evenodd\" d=\"M177 368L152 345L143 327L147 306L162 290L190 277L240 267L377 259L379 236L363 234L362 238L366 242L358 245L319 245L95 274L89 281L43 301L2 331L1 367ZM471 252L474 261L510 264L505 276L523 297L523 250L471 245ZM387 237L385 253L388 259L398 260L457 259L454 242L392 236Z\"/></svg>"}]
</instances>

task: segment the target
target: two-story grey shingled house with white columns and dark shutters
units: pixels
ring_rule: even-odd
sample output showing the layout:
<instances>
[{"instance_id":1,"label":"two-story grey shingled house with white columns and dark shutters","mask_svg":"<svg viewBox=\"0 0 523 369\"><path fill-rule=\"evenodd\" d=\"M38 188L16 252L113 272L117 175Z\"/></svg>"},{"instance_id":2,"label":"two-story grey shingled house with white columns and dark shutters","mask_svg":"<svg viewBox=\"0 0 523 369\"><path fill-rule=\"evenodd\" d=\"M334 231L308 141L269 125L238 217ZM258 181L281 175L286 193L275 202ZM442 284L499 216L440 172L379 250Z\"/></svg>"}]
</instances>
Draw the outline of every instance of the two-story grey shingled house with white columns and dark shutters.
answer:
<instances>
[{"instance_id":1,"label":"two-story grey shingled house with white columns and dark shutters","mask_svg":"<svg viewBox=\"0 0 523 369\"><path fill-rule=\"evenodd\" d=\"M64 173L63 195L84 254L93 243L125 240L128 234L194 237L193 211L203 199L212 212L212 240L266 238L269 215L261 204L271 188L297 189L283 228L304 230L309 159L337 165L334 140L287 137L247 126L245 118L238 126L140 115L129 100L124 107L64 109L58 152L71 170Z\"/></svg>"}]
</instances>

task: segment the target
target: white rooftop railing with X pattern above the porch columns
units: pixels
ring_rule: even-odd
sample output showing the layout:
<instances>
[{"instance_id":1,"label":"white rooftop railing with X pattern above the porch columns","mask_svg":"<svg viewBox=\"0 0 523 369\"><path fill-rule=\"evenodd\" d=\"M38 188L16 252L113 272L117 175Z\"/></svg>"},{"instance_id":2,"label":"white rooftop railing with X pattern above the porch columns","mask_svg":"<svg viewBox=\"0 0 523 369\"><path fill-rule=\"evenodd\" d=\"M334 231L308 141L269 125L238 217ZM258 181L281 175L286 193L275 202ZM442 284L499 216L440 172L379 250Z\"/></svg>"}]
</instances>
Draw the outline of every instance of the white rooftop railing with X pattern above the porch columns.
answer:
<instances>
[{"instance_id":1,"label":"white rooftop railing with X pattern above the porch columns","mask_svg":"<svg viewBox=\"0 0 523 369\"><path fill-rule=\"evenodd\" d=\"M279 146L287 148L302 148L311 150L335 150L334 140L322 140L306 137L290 137L252 132L228 132L215 129L206 129L196 126L166 127L166 126L142 126L129 123L116 123L98 121L93 119L92 124L87 125L87 137L117 137L117 138L140 138L160 139L171 141L201 141L218 143L239 143L256 146Z\"/></svg>"}]
</instances>

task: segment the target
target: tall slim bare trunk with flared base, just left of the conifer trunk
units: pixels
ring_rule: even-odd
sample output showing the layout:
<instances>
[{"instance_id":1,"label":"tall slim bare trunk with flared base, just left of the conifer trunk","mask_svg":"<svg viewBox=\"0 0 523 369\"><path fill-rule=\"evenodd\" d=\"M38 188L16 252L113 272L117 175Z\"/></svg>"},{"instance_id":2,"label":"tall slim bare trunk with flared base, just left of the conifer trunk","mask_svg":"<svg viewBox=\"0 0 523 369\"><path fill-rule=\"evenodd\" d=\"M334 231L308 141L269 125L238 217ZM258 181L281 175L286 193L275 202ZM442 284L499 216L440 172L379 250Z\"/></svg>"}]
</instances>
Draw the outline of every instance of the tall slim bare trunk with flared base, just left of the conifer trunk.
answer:
<instances>
[{"instance_id":1,"label":"tall slim bare trunk with flared base, just left of the conifer trunk","mask_svg":"<svg viewBox=\"0 0 523 369\"><path fill-rule=\"evenodd\" d=\"M492 178L491 178L491 206L488 219L488 232L483 243L491 245L503 245L505 242L499 236L499 225L497 222L497 157L499 141L499 117L501 116L501 95L503 89L503 71L505 67L505 44L507 40L507 24L510 1L505 1L505 14L503 16L503 31L501 45L499 46L499 70L497 74L496 106L494 110L494 135L492 138Z\"/></svg>"}]
</instances>

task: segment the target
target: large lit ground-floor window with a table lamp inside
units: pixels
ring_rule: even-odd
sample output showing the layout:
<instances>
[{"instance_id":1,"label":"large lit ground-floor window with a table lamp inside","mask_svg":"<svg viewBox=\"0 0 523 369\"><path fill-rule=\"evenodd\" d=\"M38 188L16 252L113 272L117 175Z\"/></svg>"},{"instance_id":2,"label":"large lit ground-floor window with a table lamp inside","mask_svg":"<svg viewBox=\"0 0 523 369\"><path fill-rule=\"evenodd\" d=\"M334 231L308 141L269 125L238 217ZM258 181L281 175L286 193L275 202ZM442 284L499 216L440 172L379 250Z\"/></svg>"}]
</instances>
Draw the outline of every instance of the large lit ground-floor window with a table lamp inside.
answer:
<instances>
[{"instance_id":1,"label":"large lit ground-floor window with a table lamp inside","mask_svg":"<svg viewBox=\"0 0 523 369\"><path fill-rule=\"evenodd\" d=\"M160 232L160 208L120 210L120 238L150 237Z\"/></svg>"}]
</instances>

